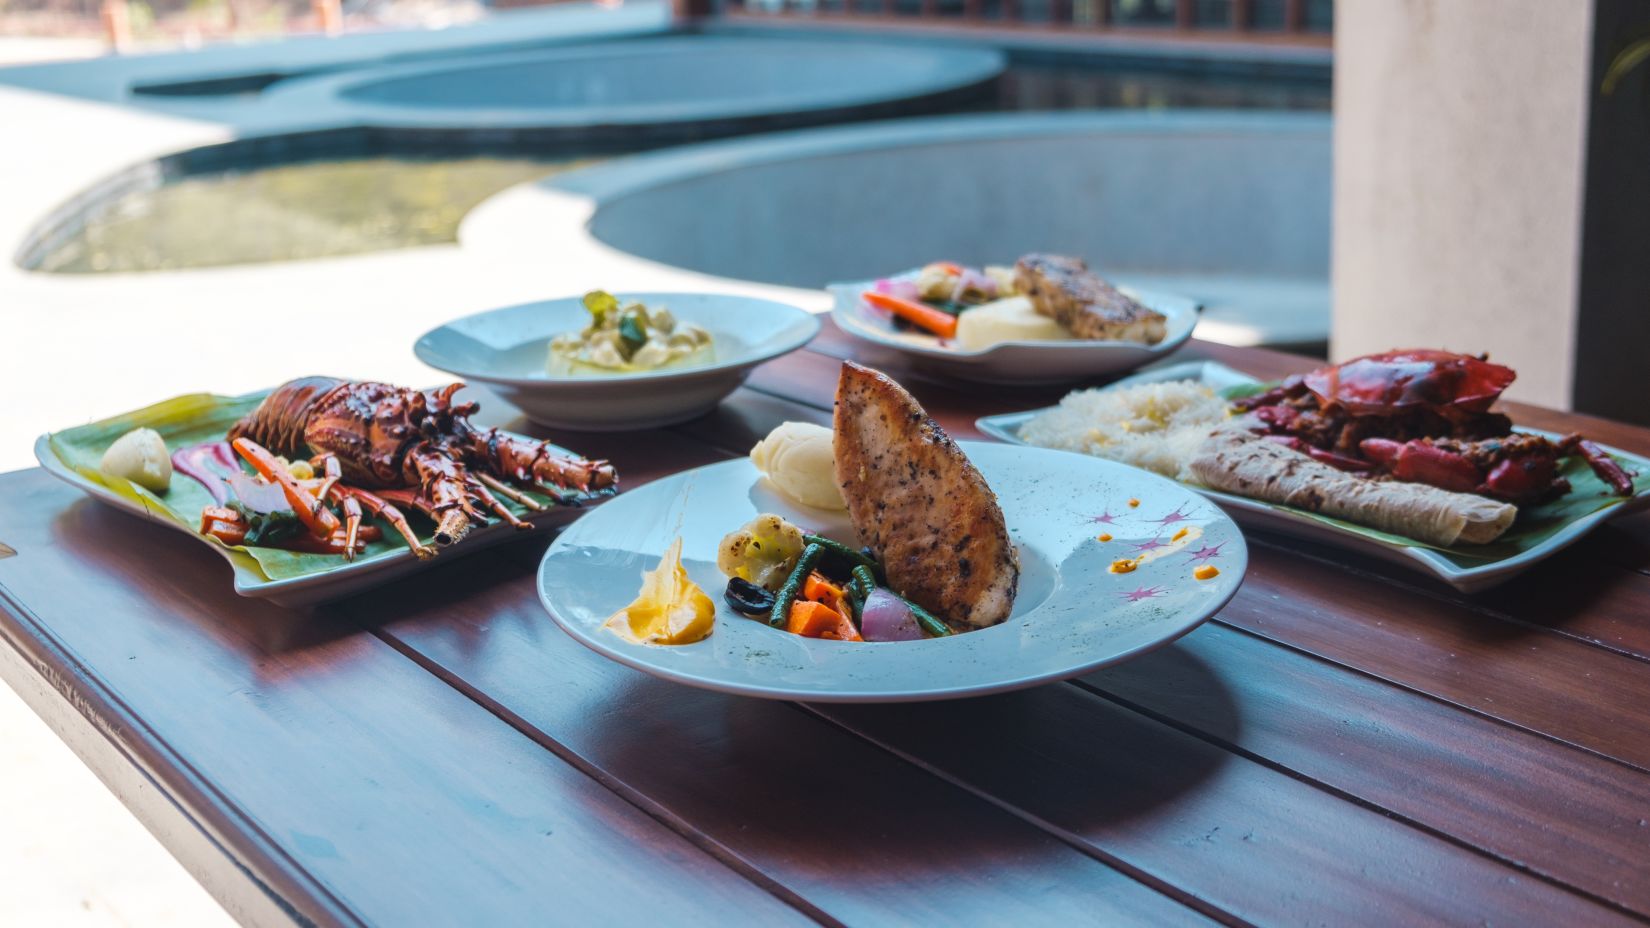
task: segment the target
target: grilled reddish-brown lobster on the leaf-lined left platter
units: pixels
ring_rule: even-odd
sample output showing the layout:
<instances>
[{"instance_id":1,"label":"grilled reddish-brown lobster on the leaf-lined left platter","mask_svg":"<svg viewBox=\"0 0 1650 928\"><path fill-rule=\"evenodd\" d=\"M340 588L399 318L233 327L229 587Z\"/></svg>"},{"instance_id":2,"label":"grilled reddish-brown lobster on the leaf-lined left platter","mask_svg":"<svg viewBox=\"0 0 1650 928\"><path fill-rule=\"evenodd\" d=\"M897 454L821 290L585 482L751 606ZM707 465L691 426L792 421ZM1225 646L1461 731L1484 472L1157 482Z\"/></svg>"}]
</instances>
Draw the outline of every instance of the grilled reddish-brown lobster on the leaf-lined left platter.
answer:
<instances>
[{"instance_id":1,"label":"grilled reddish-brown lobster on the leaf-lined left platter","mask_svg":"<svg viewBox=\"0 0 1650 928\"><path fill-rule=\"evenodd\" d=\"M543 510L544 504L523 489L558 505L617 492L619 476L606 461L561 454L548 443L470 424L478 405L452 401L462 388L450 383L421 391L305 376L277 386L228 438L269 479L285 479L271 452L312 456L323 477L312 497L294 497L314 502L309 514L299 515L322 533L337 517L320 500L338 504L345 514L338 525L345 556L356 550L363 507L389 522L412 553L427 558L436 550L419 542L394 504L434 520L434 542L446 547L485 520L483 510L516 528L531 528L498 499Z\"/></svg>"}]
</instances>

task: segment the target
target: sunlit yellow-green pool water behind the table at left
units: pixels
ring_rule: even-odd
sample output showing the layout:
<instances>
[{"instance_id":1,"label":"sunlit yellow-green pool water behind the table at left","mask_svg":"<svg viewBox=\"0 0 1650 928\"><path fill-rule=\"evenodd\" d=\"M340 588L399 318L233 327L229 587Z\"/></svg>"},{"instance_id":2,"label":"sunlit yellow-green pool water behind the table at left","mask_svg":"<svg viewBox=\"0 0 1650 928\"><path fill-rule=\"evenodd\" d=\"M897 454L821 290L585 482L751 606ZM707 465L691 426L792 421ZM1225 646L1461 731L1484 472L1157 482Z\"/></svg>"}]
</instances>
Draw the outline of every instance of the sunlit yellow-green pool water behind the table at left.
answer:
<instances>
[{"instance_id":1,"label":"sunlit yellow-green pool water behind the table at left","mask_svg":"<svg viewBox=\"0 0 1650 928\"><path fill-rule=\"evenodd\" d=\"M591 160L368 157L190 175L101 205L31 269L180 271L452 243L482 200Z\"/></svg>"}]
</instances>

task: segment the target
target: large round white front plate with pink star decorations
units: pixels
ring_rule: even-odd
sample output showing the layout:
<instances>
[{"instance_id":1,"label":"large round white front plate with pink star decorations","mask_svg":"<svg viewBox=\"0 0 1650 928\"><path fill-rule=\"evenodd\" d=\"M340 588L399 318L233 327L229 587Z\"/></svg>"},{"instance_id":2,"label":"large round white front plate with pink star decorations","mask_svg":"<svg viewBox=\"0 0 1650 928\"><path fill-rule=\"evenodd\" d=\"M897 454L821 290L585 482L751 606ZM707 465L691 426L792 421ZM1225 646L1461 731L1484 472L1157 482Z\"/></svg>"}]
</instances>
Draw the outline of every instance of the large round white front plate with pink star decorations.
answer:
<instances>
[{"instance_id":1,"label":"large round white front plate with pink star decorations","mask_svg":"<svg viewBox=\"0 0 1650 928\"><path fill-rule=\"evenodd\" d=\"M747 459L655 481L579 518L540 565L540 599L579 642L670 680L769 698L911 702L1013 690L1125 660L1186 634L1242 583L1247 548L1238 527L1173 481L1092 457L960 444L997 490L1020 548L1020 596L1000 626L842 642L736 614L723 601L728 578L716 570L716 547L759 512L855 543L845 514L790 504ZM1181 528L1185 538L1170 543ZM1101 532L1112 540L1099 542ZM688 575L716 601L714 632L696 644L645 646L602 627L678 535ZM1167 545L1155 560L1134 573L1107 570L1153 540ZM1201 563L1219 576L1195 580Z\"/></svg>"}]
</instances>

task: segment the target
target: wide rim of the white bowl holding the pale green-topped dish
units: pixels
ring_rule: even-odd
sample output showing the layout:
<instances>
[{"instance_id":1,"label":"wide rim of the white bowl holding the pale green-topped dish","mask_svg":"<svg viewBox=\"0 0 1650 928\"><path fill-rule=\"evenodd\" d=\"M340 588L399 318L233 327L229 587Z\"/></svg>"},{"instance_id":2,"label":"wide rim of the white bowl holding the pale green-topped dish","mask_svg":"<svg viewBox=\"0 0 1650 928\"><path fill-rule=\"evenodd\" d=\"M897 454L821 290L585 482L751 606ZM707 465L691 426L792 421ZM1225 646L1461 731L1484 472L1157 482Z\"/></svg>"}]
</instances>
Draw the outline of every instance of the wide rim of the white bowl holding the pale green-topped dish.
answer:
<instances>
[{"instance_id":1,"label":"wide rim of the white bowl holding the pale green-topped dish","mask_svg":"<svg viewBox=\"0 0 1650 928\"><path fill-rule=\"evenodd\" d=\"M609 292L612 292L612 291L609 291ZM561 297L548 297L548 299L536 299L536 301L516 302L516 304L510 304L510 305L495 305L492 309L483 309L483 310L478 310L478 312L470 312L470 314L465 314L465 315L452 317L452 319L442 322L441 325L434 325L434 327L424 330L417 339L414 339L412 340L412 355L417 360L427 363L429 367L432 367L432 368L436 368L439 372L446 372L446 373L450 373L454 376L462 376L465 380L474 380L477 383L488 383L488 385L497 383L497 385L513 386L513 388L518 388L518 390L558 390L558 388L579 388L579 386L599 386L599 385L619 385L619 383L624 383L624 385L630 385L630 383L657 383L657 381L668 381L668 380L688 380L688 378L696 378L696 376L731 375L731 373L738 373L738 372L752 368L752 367L761 365L761 363L767 363L767 362L771 362L771 360L774 360L777 357L789 355L790 352L795 352L795 350L802 348L804 345L807 345L808 342L812 342L813 337L820 334L820 319L818 319L818 314L813 314L813 312L808 312L808 310L805 310L805 309L802 309L799 305L792 305L789 302L780 302L780 301L769 299L769 297L756 297L756 296L746 296L746 294L728 294L728 292L705 292L705 291L635 291L635 292L632 292L632 291L620 291L615 296L620 296L622 299L653 301L653 302L668 302L672 299L680 299L680 297L693 297L696 301L698 299L736 299L736 301L742 301L742 302L761 302L761 304L767 304L769 307L777 307L777 309L780 309L784 312L794 314L792 315L792 322L802 324L804 329L805 329L805 332L799 332L799 335L792 335L789 339L782 339L782 337L776 335L776 337L769 339L767 342L752 345L752 348L751 348L749 353L736 357L736 358L729 358L729 360L724 360L724 362L711 362L708 365L695 365L695 367L683 367L683 368L644 370L644 372L625 372L625 373L610 373L610 375L609 373L592 373L592 375L582 375L582 376L502 376L502 375L485 373L485 372L477 372L477 370L460 370L459 365L449 365L449 363L442 362L434 353L434 348L431 348L427 345L429 339L434 337L437 332L442 332L446 329L452 329L459 322L467 322L467 320L472 320L472 319L483 319L483 317L488 317L488 315L500 315L500 314L505 314L505 312L516 312L516 310L523 310L523 309L528 309L528 307L533 307L533 305L541 305L541 304L549 304L549 302L566 302L566 301L582 299L581 296L561 296Z\"/></svg>"}]
</instances>

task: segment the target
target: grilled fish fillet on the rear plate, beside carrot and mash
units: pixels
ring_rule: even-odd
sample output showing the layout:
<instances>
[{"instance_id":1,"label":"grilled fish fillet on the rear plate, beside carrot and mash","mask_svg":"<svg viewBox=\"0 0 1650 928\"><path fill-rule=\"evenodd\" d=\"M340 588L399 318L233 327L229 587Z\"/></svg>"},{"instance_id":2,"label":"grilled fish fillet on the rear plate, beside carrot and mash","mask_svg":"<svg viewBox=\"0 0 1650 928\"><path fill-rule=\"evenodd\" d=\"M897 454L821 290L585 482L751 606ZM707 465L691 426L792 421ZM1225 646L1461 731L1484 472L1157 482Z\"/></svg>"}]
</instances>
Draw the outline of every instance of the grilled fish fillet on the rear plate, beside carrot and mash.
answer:
<instances>
[{"instance_id":1,"label":"grilled fish fillet on the rear plate, beside carrot and mash","mask_svg":"<svg viewBox=\"0 0 1650 928\"><path fill-rule=\"evenodd\" d=\"M1102 281L1081 258L1026 254L1015 263L1015 289L1077 339L1155 345L1167 334L1162 312Z\"/></svg>"}]
</instances>

